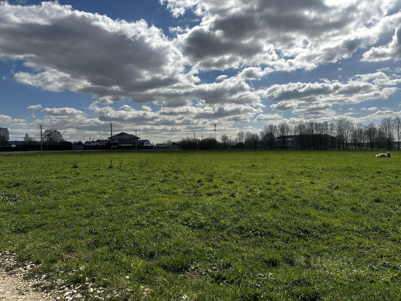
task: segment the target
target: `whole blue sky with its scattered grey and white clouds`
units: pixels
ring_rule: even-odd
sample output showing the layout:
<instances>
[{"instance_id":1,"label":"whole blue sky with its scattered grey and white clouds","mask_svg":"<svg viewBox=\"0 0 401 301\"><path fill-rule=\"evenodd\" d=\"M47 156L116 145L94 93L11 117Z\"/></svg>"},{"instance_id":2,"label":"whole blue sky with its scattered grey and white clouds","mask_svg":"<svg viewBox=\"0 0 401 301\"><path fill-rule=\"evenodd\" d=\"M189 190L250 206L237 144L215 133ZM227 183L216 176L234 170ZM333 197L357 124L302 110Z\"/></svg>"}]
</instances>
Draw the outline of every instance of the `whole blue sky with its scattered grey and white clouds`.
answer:
<instances>
[{"instance_id":1,"label":"whole blue sky with its scattered grey and white clouds","mask_svg":"<svg viewBox=\"0 0 401 301\"><path fill-rule=\"evenodd\" d=\"M401 116L400 0L0 0L10 140Z\"/></svg>"}]
</instances>

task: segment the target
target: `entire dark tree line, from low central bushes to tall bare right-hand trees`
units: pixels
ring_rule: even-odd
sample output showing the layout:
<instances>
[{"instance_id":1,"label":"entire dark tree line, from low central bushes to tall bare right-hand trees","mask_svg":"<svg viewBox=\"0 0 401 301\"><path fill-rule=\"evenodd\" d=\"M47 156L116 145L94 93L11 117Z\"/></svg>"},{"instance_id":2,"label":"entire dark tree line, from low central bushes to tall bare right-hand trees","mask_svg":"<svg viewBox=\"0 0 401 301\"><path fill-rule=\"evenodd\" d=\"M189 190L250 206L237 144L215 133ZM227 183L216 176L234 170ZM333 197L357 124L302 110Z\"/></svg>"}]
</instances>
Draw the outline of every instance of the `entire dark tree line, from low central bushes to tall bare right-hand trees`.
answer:
<instances>
[{"instance_id":1,"label":"entire dark tree line, from low central bushes to tall bare right-hand trees","mask_svg":"<svg viewBox=\"0 0 401 301\"><path fill-rule=\"evenodd\" d=\"M392 150L400 148L401 118L385 117L375 124L352 123L346 118L334 122L308 120L304 123L290 125L266 124L259 134L250 131L239 131L234 139L227 134L205 139L186 137L180 140L184 150L207 150L226 148L249 149L301 149L301 150Z\"/></svg>"}]
</instances>

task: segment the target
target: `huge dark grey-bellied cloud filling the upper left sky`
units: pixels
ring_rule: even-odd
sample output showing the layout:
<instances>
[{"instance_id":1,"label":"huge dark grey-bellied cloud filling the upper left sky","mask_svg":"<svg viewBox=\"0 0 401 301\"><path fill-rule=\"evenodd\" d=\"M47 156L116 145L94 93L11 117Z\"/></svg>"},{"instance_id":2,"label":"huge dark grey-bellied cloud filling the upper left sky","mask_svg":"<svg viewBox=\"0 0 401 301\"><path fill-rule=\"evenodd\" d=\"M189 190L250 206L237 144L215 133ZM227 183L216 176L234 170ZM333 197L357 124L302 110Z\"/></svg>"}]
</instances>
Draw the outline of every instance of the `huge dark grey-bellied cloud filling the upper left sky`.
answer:
<instances>
[{"instance_id":1,"label":"huge dark grey-bellied cloud filling the upper left sky","mask_svg":"<svg viewBox=\"0 0 401 301\"><path fill-rule=\"evenodd\" d=\"M91 93L103 102L197 81L159 28L73 10L58 2L0 2L0 58L25 61L17 82L59 92ZM95 54L95 55L94 55Z\"/></svg>"}]
</instances>

